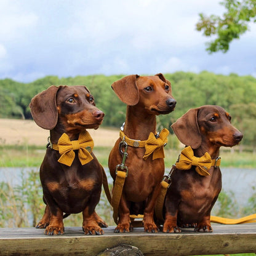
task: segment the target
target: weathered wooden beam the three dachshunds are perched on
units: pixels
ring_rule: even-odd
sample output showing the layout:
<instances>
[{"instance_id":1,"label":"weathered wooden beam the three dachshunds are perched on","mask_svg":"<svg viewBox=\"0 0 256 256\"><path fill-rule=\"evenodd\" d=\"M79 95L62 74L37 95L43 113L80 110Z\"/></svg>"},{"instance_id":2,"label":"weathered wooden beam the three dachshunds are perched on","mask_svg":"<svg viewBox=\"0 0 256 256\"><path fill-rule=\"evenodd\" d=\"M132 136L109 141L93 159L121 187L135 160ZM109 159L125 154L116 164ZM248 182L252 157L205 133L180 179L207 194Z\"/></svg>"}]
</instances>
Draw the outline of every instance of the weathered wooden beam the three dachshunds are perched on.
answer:
<instances>
[{"instance_id":1,"label":"weathered wooden beam the three dachshunds are perched on","mask_svg":"<svg viewBox=\"0 0 256 256\"><path fill-rule=\"evenodd\" d=\"M239 254L256 252L256 223L213 225L213 233L145 233L142 228L117 234L104 228L101 236L84 235L82 228L65 228L65 234L46 236L36 228L0 228L0 255L97 255L120 244L135 246L145 256Z\"/></svg>"}]
</instances>

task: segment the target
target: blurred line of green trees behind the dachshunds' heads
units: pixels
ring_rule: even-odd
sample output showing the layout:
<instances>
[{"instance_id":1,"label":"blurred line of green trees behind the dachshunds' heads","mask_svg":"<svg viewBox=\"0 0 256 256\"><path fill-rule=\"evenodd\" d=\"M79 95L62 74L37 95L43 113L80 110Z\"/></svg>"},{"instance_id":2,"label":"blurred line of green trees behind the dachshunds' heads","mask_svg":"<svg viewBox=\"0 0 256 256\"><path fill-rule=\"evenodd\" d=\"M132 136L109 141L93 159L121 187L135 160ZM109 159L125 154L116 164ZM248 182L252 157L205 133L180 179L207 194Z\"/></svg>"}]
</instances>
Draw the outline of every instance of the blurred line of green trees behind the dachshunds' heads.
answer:
<instances>
[{"instance_id":1,"label":"blurred line of green trees behind the dachshunds' heads","mask_svg":"<svg viewBox=\"0 0 256 256\"><path fill-rule=\"evenodd\" d=\"M177 100L173 113L159 116L158 126L170 124L190 108L201 105L220 105L233 116L233 124L244 133L242 144L255 148L256 145L256 79L252 76L230 74L223 76L203 71L199 74L176 72L164 74L172 83L172 94ZM0 118L31 119L28 107L31 98L51 85L85 85L95 102L105 113L103 126L119 127L124 122L126 105L111 89L111 84L124 77L76 76L58 78L46 76L27 84L11 79L0 80Z\"/></svg>"}]
</instances>

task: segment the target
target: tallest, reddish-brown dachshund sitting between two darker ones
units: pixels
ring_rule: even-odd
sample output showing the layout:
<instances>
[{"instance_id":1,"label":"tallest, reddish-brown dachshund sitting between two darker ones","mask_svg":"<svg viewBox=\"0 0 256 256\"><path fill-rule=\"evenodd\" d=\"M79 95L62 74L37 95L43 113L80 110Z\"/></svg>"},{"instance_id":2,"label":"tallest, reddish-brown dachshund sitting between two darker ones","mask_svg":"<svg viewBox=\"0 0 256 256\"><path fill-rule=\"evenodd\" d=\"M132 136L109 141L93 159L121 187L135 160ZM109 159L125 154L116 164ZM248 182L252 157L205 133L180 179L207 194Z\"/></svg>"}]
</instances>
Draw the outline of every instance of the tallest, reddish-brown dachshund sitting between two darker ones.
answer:
<instances>
[{"instance_id":1,"label":"tallest, reddish-brown dachshund sitting between two darker ones","mask_svg":"<svg viewBox=\"0 0 256 256\"><path fill-rule=\"evenodd\" d=\"M116 233L132 230L130 214L143 214L143 225L147 232L156 232L158 228L153 220L153 210L164 174L164 159L150 154L145 156L145 148L138 141L145 141L150 134L156 135L156 115L167 114L174 110L176 101L172 97L170 82L162 74L155 76L126 76L112 84L114 92L127 104L124 137L134 146L128 146L126 166L129 172L122 190L119 204L119 221ZM116 166L121 164L117 140L111 150L108 166L113 179L116 178ZM144 158L144 159L143 159ZM154 160L153 160L154 159Z\"/></svg>"}]
</instances>

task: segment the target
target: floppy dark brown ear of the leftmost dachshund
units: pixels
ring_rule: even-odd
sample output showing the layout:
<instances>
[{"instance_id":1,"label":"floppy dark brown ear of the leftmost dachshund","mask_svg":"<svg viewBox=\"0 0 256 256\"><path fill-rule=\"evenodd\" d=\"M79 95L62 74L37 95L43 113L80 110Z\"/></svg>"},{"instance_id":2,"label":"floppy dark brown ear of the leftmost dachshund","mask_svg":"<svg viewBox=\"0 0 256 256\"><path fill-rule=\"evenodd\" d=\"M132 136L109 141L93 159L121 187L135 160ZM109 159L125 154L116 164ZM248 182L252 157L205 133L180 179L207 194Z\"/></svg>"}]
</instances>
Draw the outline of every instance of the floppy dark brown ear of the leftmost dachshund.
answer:
<instances>
[{"instance_id":1,"label":"floppy dark brown ear of the leftmost dachshund","mask_svg":"<svg viewBox=\"0 0 256 256\"><path fill-rule=\"evenodd\" d=\"M30 102L30 110L34 121L43 129L52 130L57 124L57 91L57 86L50 86L47 90L34 96Z\"/></svg>"}]
</instances>

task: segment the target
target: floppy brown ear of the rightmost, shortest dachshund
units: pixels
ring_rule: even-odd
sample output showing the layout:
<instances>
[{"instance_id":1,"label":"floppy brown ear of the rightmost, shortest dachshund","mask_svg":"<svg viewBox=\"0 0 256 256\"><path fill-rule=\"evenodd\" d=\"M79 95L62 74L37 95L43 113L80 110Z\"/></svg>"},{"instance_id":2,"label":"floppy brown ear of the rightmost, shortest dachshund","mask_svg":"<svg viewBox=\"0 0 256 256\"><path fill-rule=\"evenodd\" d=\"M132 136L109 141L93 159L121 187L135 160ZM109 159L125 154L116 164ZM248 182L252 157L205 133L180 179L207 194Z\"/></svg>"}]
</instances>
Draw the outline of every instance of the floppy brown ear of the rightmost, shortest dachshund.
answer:
<instances>
[{"instance_id":1,"label":"floppy brown ear of the rightmost, shortest dachshund","mask_svg":"<svg viewBox=\"0 0 256 256\"><path fill-rule=\"evenodd\" d=\"M178 140L186 146L191 146L193 149L201 146L202 137L198 127L198 108L188 110L171 127Z\"/></svg>"}]
</instances>

